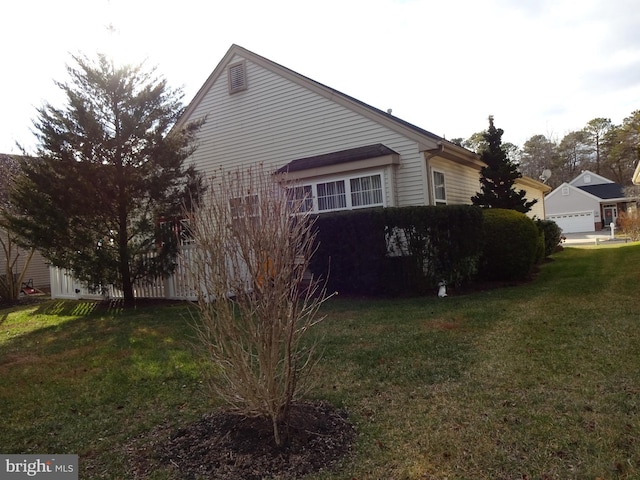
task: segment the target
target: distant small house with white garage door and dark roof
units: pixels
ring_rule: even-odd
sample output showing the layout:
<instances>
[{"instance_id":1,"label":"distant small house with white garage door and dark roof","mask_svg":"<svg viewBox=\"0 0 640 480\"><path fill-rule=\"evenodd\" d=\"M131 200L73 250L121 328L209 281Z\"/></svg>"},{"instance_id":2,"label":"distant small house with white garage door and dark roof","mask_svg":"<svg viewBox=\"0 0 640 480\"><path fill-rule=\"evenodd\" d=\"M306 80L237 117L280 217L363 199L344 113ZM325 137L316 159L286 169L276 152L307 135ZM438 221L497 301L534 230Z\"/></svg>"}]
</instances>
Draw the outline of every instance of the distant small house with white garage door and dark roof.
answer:
<instances>
[{"instance_id":1,"label":"distant small house with white garage door and dark roof","mask_svg":"<svg viewBox=\"0 0 640 480\"><path fill-rule=\"evenodd\" d=\"M601 175L584 170L565 182L545 199L546 219L555 221L565 233L592 232L616 222L635 200L624 194L624 187Z\"/></svg>"}]
</instances>

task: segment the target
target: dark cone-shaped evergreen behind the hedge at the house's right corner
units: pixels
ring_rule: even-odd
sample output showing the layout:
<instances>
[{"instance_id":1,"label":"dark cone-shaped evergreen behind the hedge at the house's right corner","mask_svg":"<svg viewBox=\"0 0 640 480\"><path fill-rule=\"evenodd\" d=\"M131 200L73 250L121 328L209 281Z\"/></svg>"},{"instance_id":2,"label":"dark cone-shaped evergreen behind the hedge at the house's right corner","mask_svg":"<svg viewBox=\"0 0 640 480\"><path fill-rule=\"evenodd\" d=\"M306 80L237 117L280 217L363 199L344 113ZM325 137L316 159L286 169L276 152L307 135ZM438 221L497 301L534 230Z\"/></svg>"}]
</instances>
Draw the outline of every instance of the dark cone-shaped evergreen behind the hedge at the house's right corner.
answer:
<instances>
[{"instance_id":1,"label":"dark cone-shaped evergreen behind the hedge at the house's right corner","mask_svg":"<svg viewBox=\"0 0 640 480\"><path fill-rule=\"evenodd\" d=\"M493 116L489 116L489 129L484 134L486 145L480 154L487 166L480 170L480 192L471 197L471 201L480 207L527 213L537 200L528 202L524 190L515 190L515 181L522 174L502 148L503 133L501 128L493 124Z\"/></svg>"}]
</instances>

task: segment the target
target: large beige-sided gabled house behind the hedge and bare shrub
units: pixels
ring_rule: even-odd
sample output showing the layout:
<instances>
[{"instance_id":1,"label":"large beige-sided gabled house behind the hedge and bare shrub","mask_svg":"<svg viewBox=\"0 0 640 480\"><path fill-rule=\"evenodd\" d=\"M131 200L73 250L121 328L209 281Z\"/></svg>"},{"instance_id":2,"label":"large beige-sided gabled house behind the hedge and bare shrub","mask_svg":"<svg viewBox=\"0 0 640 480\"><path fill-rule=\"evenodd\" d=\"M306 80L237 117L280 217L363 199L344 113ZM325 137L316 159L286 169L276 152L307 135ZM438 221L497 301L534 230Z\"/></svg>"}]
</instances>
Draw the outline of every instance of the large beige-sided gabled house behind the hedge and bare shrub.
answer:
<instances>
[{"instance_id":1,"label":"large beige-sided gabled house behind the hedge and bare shrub","mask_svg":"<svg viewBox=\"0 0 640 480\"><path fill-rule=\"evenodd\" d=\"M208 175L261 162L288 172L322 213L470 204L480 157L356 98L232 45L178 122L206 117L191 161ZM544 218L548 187L521 179Z\"/></svg>"}]
</instances>

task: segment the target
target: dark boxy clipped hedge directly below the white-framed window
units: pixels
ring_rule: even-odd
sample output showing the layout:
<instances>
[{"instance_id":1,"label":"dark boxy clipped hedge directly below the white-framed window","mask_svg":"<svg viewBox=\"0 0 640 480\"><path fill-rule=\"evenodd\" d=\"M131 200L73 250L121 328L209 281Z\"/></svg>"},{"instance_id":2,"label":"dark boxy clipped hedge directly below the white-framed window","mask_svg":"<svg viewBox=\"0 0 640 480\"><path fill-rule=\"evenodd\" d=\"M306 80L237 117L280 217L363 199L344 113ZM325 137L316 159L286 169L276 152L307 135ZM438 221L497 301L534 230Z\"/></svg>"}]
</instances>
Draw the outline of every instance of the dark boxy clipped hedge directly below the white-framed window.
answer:
<instances>
[{"instance_id":1,"label":"dark boxy clipped hedge directly below the white-framed window","mask_svg":"<svg viewBox=\"0 0 640 480\"><path fill-rule=\"evenodd\" d=\"M477 207L405 207L324 214L311 262L330 290L416 295L470 283L478 271L482 214Z\"/></svg>"}]
</instances>

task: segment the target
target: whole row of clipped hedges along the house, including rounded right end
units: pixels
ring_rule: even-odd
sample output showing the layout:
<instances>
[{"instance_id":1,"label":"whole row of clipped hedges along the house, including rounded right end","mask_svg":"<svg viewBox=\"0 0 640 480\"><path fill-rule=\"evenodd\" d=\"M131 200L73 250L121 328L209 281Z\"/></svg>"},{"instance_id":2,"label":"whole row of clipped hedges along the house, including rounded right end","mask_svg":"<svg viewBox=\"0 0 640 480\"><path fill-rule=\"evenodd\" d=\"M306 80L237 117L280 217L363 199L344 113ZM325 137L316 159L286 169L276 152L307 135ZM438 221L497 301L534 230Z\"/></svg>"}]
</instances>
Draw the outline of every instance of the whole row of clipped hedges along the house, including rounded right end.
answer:
<instances>
[{"instance_id":1,"label":"whole row of clipped hedges along the house, including rounded right end","mask_svg":"<svg viewBox=\"0 0 640 480\"><path fill-rule=\"evenodd\" d=\"M547 235L555 238L555 223L540 225L515 210L465 205L324 214L311 270L331 291L365 296L423 295L442 280L522 280L548 255Z\"/></svg>"}]
</instances>

